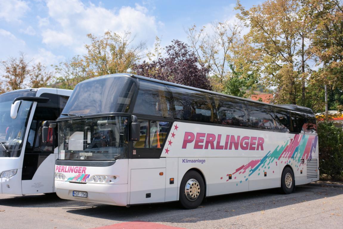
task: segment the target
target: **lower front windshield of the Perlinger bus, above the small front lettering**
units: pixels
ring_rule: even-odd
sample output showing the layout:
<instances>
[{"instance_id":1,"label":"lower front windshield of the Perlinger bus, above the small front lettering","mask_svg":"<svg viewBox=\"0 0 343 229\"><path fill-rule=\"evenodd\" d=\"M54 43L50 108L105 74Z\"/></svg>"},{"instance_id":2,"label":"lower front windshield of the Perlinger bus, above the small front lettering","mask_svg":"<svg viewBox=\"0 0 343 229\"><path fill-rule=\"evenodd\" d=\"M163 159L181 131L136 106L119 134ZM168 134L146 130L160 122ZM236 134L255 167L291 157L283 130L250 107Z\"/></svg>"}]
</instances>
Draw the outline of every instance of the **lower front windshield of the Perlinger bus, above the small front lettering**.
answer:
<instances>
[{"instance_id":1,"label":"lower front windshield of the Perlinger bus, above the small front lettering","mask_svg":"<svg viewBox=\"0 0 343 229\"><path fill-rule=\"evenodd\" d=\"M127 158L128 116L60 121L60 160L108 161Z\"/></svg>"}]
</instances>

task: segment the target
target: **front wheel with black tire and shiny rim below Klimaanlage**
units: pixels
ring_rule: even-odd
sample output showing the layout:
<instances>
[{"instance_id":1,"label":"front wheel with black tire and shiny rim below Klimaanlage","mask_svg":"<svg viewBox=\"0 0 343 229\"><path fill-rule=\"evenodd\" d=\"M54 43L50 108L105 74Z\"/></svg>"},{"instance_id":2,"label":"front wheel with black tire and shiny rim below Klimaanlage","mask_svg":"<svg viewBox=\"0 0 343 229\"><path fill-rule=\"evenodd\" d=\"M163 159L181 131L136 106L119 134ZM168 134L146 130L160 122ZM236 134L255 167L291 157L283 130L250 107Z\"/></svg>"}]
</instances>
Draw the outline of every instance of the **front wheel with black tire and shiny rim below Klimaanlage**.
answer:
<instances>
[{"instance_id":1,"label":"front wheel with black tire and shiny rim below Klimaanlage","mask_svg":"<svg viewBox=\"0 0 343 229\"><path fill-rule=\"evenodd\" d=\"M193 191L193 192L192 192ZM186 209L197 208L205 195L205 183L196 171L188 171L180 185L180 203Z\"/></svg>"}]
</instances>

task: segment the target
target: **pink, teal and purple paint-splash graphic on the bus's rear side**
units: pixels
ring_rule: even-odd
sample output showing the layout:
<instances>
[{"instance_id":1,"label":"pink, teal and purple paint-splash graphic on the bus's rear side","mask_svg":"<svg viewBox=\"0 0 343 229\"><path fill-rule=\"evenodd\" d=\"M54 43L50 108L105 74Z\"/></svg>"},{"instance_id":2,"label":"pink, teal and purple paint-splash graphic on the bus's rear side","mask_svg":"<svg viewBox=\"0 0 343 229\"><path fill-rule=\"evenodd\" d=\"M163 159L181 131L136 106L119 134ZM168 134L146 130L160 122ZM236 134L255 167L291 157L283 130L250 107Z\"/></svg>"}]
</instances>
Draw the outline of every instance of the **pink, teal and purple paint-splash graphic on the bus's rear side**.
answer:
<instances>
[{"instance_id":1,"label":"pink, teal and purple paint-splash graphic on the bus's rear side","mask_svg":"<svg viewBox=\"0 0 343 229\"><path fill-rule=\"evenodd\" d=\"M312 153L316 151L317 147L318 136L316 135L294 135L294 138L286 141L284 145L277 146L273 151L269 151L265 156L261 159L251 160L248 164L242 165L241 167L237 168L235 172L232 173L234 179L237 179L235 174L244 174L248 171L248 177L251 176L256 171L260 171L261 169L269 170L271 163L275 162L282 164L290 164L291 162L295 163L295 167L298 168L301 162L304 162L307 159L312 158ZM302 160L303 159L303 160ZM274 173L274 171L273 171ZM260 172L258 173L260 175ZM226 174L228 177L229 174ZM245 181L248 180L246 176L244 176ZM220 179L223 179L221 177ZM227 179L226 181L229 181ZM243 180L237 182L242 183Z\"/></svg>"}]
</instances>

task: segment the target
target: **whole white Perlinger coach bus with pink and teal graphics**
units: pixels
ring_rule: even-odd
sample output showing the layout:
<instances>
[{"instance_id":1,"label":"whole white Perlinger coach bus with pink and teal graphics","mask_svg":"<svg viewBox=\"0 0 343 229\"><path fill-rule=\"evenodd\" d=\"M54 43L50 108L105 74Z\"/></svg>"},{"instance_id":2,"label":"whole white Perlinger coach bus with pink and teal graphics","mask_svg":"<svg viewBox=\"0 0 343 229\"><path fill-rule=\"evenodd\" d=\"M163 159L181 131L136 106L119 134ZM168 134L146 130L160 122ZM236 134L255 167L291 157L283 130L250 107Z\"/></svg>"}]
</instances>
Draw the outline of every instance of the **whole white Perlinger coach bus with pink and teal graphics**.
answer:
<instances>
[{"instance_id":1,"label":"whole white Perlinger coach bus with pink and teal graphics","mask_svg":"<svg viewBox=\"0 0 343 229\"><path fill-rule=\"evenodd\" d=\"M56 193L118 206L180 201L319 179L316 119L141 76L76 85L57 119Z\"/></svg>"}]
</instances>

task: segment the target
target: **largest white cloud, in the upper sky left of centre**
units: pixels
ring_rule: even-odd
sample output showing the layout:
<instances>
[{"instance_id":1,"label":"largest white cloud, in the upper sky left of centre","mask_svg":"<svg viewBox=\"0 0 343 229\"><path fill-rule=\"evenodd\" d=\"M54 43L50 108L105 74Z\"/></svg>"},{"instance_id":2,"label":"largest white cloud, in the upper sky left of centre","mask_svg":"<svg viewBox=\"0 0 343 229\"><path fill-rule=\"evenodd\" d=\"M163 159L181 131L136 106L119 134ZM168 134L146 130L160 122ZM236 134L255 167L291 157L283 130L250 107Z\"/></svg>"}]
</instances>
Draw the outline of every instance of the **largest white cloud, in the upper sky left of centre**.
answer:
<instances>
[{"instance_id":1,"label":"largest white cloud, in the upper sky left of centre","mask_svg":"<svg viewBox=\"0 0 343 229\"><path fill-rule=\"evenodd\" d=\"M42 33L43 43L69 45L75 53L80 50L80 44L89 43L88 33L101 36L106 31L118 34L129 31L132 37L135 36L135 42L151 41L157 35L157 28L163 25L139 4L135 8L106 9L102 4L82 3L79 0L47 0L47 7L50 24L49 29ZM39 25L43 26L46 21L40 19Z\"/></svg>"}]
</instances>

